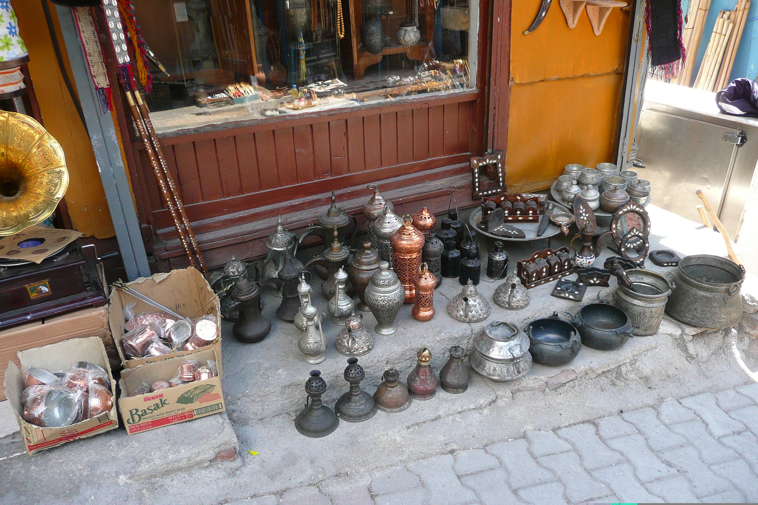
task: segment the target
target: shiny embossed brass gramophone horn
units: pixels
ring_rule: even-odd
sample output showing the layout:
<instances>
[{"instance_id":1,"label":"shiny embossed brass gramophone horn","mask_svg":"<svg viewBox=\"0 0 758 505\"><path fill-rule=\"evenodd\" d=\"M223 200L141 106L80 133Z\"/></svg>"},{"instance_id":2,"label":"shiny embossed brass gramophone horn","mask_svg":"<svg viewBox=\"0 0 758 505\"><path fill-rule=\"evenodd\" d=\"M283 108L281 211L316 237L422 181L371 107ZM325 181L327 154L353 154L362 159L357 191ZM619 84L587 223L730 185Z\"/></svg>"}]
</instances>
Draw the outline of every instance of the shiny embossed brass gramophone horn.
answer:
<instances>
[{"instance_id":1,"label":"shiny embossed brass gramophone horn","mask_svg":"<svg viewBox=\"0 0 758 505\"><path fill-rule=\"evenodd\" d=\"M67 188L58 141L31 117L0 111L0 236L44 221Z\"/></svg>"}]
</instances>

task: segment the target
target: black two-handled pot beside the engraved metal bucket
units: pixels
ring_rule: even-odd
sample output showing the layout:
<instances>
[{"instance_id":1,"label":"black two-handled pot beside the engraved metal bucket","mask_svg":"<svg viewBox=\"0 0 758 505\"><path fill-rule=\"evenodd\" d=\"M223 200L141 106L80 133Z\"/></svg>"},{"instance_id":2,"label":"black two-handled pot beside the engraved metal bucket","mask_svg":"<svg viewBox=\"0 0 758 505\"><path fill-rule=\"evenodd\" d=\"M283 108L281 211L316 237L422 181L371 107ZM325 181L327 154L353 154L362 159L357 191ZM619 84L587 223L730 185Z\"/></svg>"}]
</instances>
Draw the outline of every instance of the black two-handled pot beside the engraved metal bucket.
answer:
<instances>
[{"instance_id":1,"label":"black two-handled pot beside the engraved metal bucket","mask_svg":"<svg viewBox=\"0 0 758 505\"><path fill-rule=\"evenodd\" d=\"M634 336L626 313L609 304L581 307L572 323L579 330L582 344L602 351L620 348Z\"/></svg>"}]
</instances>

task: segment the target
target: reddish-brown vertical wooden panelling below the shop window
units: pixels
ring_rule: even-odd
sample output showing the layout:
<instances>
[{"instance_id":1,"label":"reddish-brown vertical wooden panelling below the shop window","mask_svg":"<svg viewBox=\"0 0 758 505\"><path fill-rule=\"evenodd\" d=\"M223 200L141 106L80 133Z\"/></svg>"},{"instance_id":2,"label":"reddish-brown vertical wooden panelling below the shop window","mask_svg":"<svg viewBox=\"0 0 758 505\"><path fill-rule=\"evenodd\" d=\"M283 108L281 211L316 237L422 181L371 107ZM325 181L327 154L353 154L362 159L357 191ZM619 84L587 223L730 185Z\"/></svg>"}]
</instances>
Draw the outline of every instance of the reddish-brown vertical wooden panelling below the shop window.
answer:
<instances>
[{"instance_id":1,"label":"reddish-brown vertical wooden panelling below the shop window","mask_svg":"<svg viewBox=\"0 0 758 505\"><path fill-rule=\"evenodd\" d=\"M171 139L164 154L190 220L202 220L272 203L246 195L340 176L344 181L335 187L344 188L445 166L449 157L475 150L471 145L475 109L476 101L454 101L192 142ZM148 185L151 208L146 210L159 229L171 226L144 151L139 152L139 161ZM376 172L362 175L370 170ZM307 195L309 187L296 189L296 196ZM272 198L286 201L295 195L280 193Z\"/></svg>"}]
</instances>

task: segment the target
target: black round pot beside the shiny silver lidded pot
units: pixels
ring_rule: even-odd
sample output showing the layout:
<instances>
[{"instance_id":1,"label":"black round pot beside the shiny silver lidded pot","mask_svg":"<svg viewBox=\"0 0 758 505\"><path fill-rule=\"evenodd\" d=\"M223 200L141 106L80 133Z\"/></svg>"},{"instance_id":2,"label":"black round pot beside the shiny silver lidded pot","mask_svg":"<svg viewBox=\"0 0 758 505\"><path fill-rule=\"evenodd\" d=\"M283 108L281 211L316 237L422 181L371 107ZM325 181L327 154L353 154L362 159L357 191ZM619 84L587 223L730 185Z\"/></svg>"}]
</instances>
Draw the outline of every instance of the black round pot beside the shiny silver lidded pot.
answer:
<instances>
[{"instance_id":1,"label":"black round pot beside the shiny silver lidded pot","mask_svg":"<svg viewBox=\"0 0 758 505\"><path fill-rule=\"evenodd\" d=\"M525 330L529 337L529 352L534 363L561 366L570 363L579 351L579 332L562 320L557 312L550 317L534 320Z\"/></svg>"}]
</instances>

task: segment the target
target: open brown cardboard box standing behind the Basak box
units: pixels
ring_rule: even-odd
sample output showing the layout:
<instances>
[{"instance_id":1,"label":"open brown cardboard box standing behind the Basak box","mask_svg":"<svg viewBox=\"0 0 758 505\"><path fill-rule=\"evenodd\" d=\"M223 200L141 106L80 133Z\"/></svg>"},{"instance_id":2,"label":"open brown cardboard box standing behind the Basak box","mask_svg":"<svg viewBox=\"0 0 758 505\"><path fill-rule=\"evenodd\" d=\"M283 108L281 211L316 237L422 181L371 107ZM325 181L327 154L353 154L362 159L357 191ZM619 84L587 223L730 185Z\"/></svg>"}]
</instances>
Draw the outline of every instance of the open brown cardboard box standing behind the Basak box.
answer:
<instances>
[{"instance_id":1,"label":"open brown cardboard box standing behind the Basak box","mask_svg":"<svg viewBox=\"0 0 758 505\"><path fill-rule=\"evenodd\" d=\"M152 277L140 277L127 284L130 288L139 291L152 300L157 301L167 309L174 310L177 314L190 319L213 314L218 320L218 338L213 344L205 348L214 348L218 357L221 357L221 304L218 296L215 295L211 286L193 267L183 270L171 270L169 273L156 273ZM158 309L144 301L134 298L132 295L121 291L120 289L111 289L109 298L110 311L108 314L108 323L111 326L111 333L119 356L124 368L136 368L137 366L147 363L158 363L159 361L171 360L174 357L183 357L186 360L195 359L191 357L196 354L195 351L181 351L164 356L127 359L124 354L124 348L121 346L121 337L124 336L124 307L127 304L136 302L134 313L139 315L143 312L155 312ZM218 363L218 375L221 376L221 362Z\"/></svg>"}]
</instances>

